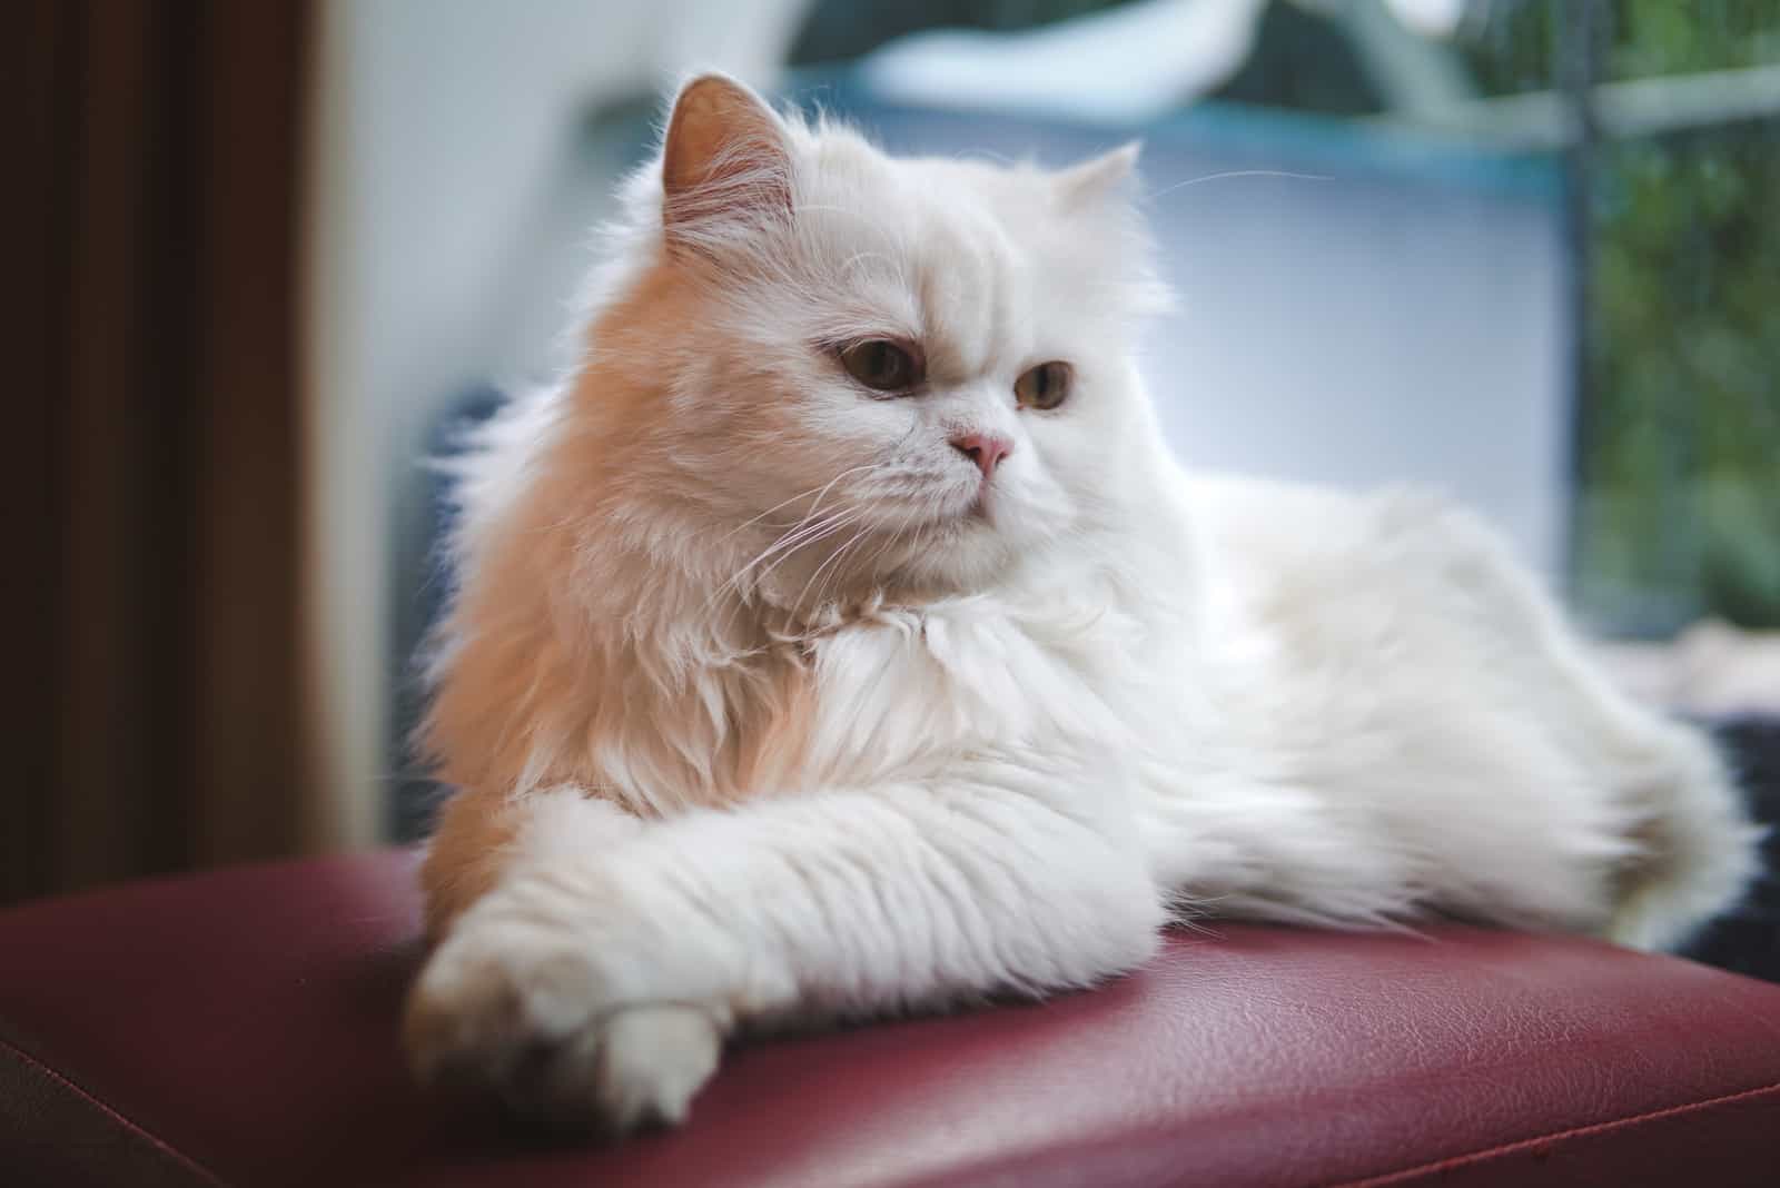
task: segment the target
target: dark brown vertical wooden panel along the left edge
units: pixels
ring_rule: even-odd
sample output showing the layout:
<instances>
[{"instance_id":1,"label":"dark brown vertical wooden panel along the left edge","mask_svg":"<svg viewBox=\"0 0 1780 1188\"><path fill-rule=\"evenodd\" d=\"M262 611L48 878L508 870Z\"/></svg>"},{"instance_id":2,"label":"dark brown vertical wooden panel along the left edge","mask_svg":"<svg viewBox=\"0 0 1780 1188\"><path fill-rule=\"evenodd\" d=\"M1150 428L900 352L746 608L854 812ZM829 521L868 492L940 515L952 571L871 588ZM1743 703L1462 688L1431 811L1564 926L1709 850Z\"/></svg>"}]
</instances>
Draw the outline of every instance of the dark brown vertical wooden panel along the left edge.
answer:
<instances>
[{"instance_id":1,"label":"dark brown vertical wooden panel along the left edge","mask_svg":"<svg viewBox=\"0 0 1780 1188\"><path fill-rule=\"evenodd\" d=\"M23 265L0 896L297 845L308 7L0 11Z\"/></svg>"}]
</instances>

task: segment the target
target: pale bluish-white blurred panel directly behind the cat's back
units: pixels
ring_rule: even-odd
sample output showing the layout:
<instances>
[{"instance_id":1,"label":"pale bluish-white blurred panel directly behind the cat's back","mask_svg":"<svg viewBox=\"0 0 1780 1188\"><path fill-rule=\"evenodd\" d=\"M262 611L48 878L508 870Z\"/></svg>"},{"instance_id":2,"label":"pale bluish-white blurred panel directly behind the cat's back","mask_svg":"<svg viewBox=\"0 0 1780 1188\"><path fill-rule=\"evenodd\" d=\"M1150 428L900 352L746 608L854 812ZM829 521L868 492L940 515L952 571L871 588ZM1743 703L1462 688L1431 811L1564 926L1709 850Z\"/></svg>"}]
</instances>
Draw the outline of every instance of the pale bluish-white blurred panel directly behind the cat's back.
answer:
<instances>
[{"instance_id":1,"label":"pale bluish-white blurred panel directly behind the cat's back","mask_svg":"<svg viewBox=\"0 0 1780 1188\"><path fill-rule=\"evenodd\" d=\"M1184 459L1444 487L1559 578L1572 343L1554 203L1339 174L1162 203L1182 313L1146 370Z\"/></svg>"}]
</instances>

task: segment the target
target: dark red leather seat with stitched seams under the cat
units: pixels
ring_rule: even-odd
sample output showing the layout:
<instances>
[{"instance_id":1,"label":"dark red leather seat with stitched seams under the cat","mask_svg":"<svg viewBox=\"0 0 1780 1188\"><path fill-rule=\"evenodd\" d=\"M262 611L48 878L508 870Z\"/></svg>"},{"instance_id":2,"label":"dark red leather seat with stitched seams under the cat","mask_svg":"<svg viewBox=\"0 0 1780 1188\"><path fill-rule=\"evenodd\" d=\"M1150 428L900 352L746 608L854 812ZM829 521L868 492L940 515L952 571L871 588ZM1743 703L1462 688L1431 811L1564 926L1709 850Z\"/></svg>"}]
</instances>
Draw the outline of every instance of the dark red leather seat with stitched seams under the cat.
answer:
<instances>
[{"instance_id":1,"label":"dark red leather seat with stitched seams under the cat","mask_svg":"<svg viewBox=\"0 0 1780 1188\"><path fill-rule=\"evenodd\" d=\"M1780 987L1586 941L1219 927L1098 992L744 1046L541 1147L409 1088L400 854L0 916L0 1183L1780 1184Z\"/></svg>"}]
</instances>

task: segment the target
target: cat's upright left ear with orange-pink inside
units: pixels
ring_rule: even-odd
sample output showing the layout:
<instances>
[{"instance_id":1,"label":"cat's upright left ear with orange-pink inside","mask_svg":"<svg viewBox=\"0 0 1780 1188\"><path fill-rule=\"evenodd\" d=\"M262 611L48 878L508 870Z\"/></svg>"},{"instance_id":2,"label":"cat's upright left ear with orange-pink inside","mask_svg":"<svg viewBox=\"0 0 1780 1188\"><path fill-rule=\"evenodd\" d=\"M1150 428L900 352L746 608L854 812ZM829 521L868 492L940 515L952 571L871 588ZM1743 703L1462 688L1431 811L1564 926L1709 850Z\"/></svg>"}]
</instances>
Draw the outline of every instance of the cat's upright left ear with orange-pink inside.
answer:
<instances>
[{"instance_id":1,"label":"cat's upright left ear with orange-pink inside","mask_svg":"<svg viewBox=\"0 0 1780 1188\"><path fill-rule=\"evenodd\" d=\"M680 89L662 144L662 226L669 238L712 222L790 213L785 124L758 94L724 75Z\"/></svg>"}]
</instances>

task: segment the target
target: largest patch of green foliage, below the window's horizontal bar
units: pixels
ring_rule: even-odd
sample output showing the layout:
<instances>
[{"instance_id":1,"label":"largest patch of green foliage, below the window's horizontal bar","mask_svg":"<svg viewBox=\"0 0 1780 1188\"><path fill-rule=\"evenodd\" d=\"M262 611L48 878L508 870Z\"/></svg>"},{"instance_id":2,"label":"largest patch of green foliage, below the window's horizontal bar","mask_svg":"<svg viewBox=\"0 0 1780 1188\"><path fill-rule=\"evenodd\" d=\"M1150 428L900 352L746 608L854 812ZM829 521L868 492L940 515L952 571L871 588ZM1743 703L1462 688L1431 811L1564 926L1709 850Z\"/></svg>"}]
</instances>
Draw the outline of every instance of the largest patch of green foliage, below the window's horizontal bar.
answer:
<instances>
[{"instance_id":1,"label":"largest patch of green foliage, below the window's horizontal bar","mask_svg":"<svg viewBox=\"0 0 1780 1188\"><path fill-rule=\"evenodd\" d=\"M1577 592L1780 626L1780 128L1602 155Z\"/></svg>"}]
</instances>

